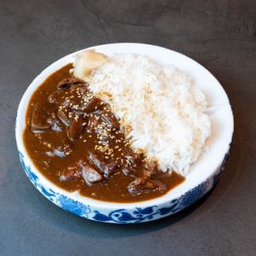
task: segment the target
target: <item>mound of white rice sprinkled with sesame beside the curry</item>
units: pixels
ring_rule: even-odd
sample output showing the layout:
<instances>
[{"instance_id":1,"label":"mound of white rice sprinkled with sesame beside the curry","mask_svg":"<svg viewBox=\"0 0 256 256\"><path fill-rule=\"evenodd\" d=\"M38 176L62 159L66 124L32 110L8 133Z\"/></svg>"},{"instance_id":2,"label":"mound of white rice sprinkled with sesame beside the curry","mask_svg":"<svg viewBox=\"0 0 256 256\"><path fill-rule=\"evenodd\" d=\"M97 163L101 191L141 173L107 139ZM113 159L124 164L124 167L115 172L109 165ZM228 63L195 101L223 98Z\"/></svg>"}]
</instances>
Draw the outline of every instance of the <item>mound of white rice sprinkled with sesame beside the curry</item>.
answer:
<instances>
[{"instance_id":1,"label":"mound of white rice sprinkled with sesame beside the curry","mask_svg":"<svg viewBox=\"0 0 256 256\"><path fill-rule=\"evenodd\" d=\"M134 150L156 160L162 172L188 174L211 121L205 96L187 74L143 55L114 55L96 68L90 90L110 104Z\"/></svg>"}]
</instances>

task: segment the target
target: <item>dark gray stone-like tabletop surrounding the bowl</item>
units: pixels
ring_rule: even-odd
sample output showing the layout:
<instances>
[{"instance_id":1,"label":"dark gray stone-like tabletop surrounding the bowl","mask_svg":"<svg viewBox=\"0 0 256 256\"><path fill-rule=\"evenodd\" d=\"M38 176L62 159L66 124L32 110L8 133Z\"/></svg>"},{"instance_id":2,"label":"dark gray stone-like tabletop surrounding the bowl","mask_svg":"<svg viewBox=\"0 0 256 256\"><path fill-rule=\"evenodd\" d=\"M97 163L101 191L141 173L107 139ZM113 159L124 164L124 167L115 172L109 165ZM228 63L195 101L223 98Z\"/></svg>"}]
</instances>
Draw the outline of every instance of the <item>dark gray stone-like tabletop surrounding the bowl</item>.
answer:
<instances>
[{"instance_id":1,"label":"dark gray stone-like tabletop surrounding the bowl","mask_svg":"<svg viewBox=\"0 0 256 256\"><path fill-rule=\"evenodd\" d=\"M192 3L193 2L193 3ZM223 84L234 147L216 189L148 224L94 223L44 199L21 171L15 114L32 79L78 49L158 44ZM255 255L255 1L0 1L0 255Z\"/></svg>"}]
</instances>

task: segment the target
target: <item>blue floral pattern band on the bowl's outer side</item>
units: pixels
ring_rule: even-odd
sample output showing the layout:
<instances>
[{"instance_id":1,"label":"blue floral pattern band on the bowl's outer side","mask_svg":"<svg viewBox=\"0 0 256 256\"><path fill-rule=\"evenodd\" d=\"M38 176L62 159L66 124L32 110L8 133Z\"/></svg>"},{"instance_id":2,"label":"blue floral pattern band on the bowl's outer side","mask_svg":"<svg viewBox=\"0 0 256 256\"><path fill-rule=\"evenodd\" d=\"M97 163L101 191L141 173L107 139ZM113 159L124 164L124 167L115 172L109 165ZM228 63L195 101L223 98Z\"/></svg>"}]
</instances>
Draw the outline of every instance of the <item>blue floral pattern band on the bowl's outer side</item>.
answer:
<instances>
[{"instance_id":1,"label":"blue floral pattern band on the bowl's outer side","mask_svg":"<svg viewBox=\"0 0 256 256\"><path fill-rule=\"evenodd\" d=\"M175 212L183 210L185 207L189 207L195 201L205 195L212 186L214 186L221 173L224 170L224 164L226 163L229 154L224 157L223 164L218 169L213 177L209 177L206 182L199 184L195 189L189 190L189 192L182 195L180 198L170 201L167 205L163 206L152 206L133 209L118 209L115 211L108 211L101 208L92 208L89 205L85 205L82 202L75 201L72 198L55 192L53 189L46 188L40 183L39 177L32 172L31 166L26 165L26 158L23 154L20 154L20 163L27 177L33 185L46 197L49 201L54 202L57 206L63 208L68 212L73 212L83 218L89 218L92 220L116 223L116 224L132 224L151 221L157 218L163 218L171 215Z\"/></svg>"}]
</instances>

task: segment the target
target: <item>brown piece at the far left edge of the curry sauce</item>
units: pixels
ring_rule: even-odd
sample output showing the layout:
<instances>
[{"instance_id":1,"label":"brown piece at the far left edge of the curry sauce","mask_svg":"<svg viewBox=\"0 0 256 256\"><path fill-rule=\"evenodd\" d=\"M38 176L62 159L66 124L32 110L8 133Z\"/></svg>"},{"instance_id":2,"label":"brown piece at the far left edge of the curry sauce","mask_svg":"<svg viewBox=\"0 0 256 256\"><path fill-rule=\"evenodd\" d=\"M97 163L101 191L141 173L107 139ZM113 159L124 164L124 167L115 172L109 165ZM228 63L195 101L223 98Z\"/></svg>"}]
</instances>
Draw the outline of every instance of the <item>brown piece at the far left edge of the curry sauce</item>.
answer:
<instances>
[{"instance_id":1,"label":"brown piece at the far left edge of the curry sauce","mask_svg":"<svg viewBox=\"0 0 256 256\"><path fill-rule=\"evenodd\" d=\"M34 133L42 133L49 130L51 123L47 121L47 116L42 111L41 106L37 103L32 112L31 130Z\"/></svg>"}]
</instances>

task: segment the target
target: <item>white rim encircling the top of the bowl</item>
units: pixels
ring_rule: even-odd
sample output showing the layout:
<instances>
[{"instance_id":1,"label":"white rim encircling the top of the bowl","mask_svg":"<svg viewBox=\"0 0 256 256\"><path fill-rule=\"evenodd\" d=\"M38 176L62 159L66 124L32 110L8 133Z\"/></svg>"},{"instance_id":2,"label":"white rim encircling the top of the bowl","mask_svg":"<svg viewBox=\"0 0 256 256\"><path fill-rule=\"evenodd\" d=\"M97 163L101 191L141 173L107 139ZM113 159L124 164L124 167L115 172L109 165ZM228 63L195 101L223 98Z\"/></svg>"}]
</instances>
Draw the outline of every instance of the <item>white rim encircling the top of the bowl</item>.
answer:
<instances>
[{"instance_id":1,"label":"white rim encircling the top of the bowl","mask_svg":"<svg viewBox=\"0 0 256 256\"><path fill-rule=\"evenodd\" d=\"M228 98L227 94L225 93L224 88L218 82L218 80L205 67L201 66L200 63L198 63L197 61L194 61L193 59L189 58L186 55L178 53L175 50L166 49L164 47L160 47L157 45L137 44L137 43L100 44L100 45L91 46L91 47L88 47L85 49L96 49L99 51L104 51L106 49L108 50L109 47L110 48L116 47L117 49L121 49L122 47L128 47L131 49L133 49L133 48L142 49L142 47L143 47L143 48L147 48L148 50L158 49L158 50L161 50L161 51L164 50L166 52L169 52L169 53L172 53L179 57L182 57L185 61L190 61L197 67L200 67L203 72L207 73L207 76L209 76L209 78L211 78L215 84L218 84L220 86L220 88L218 88L218 89L222 90L222 94L224 94L224 96L226 96L226 101L230 107L229 98ZM55 185L55 183L52 183L51 181L49 181L49 179L44 177L44 175L41 174L41 172L39 172L38 168L33 164L30 156L26 152L26 148L25 148L25 145L24 145L23 139L22 139L22 134L23 134L24 129L22 129L21 123L22 123L22 120L23 120L23 122L25 122L26 109L27 109L28 103L30 101L32 93L38 89L38 86L40 86L40 84L42 84L42 82L45 79L47 79L47 77L49 77L49 75L51 73L54 73L56 70L60 69L61 67L64 67L67 63L71 62L73 60L73 55L77 55L79 52L84 51L85 49L80 49L76 52L66 55L66 56L62 57L61 59L51 63L48 67L44 68L44 70L41 73L39 73L35 79L32 80L32 83L28 85L25 93L23 94L23 96L20 100L20 104L19 104L19 107L17 110L17 116L16 116L16 125L15 125L15 138L16 138L17 148L20 151L20 153L23 154L23 156L24 156L26 162L29 164L29 166L32 167L32 172L35 172L37 174L40 183L42 183L44 186L46 186L50 189L53 189L56 193L65 195L65 196L73 199L74 201L79 201L79 202L83 203L84 205L90 205L91 207L98 207L98 208L102 208L102 209L106 209L106 210L107 209L113 210L113 209L120 209L120 208L132 209L132 208L137 208L137 207L152 207L155 205L164 205L164 204L166 204L170 201L173 201L173 200L181 197L182 195L186 194L190 189L195 189L196 186L200 185L201 183L206 182L207 178L212 177L212 175L214 175L214 173L218 170L218 168L221 164L220 162L215 163L215 165L212 164L212 167L211 167L212 172L209 172L206 177L199 179L197 182L191 184L190 186L188 185L189 189L184 189L183 191L180 191L180 189L177 189L177 188L180 188L180 186L183 183L186 183L186 181L187 181L187 179L186 179L182 184L180 184L176 188L170 190L165 195L162 195L160 197L157 197L157 198L154 198L151 200L136 201L136 202L98 201L98 200L92 199L90 197L86 197L84 195L79 195L78 192L68 192L65 189L61 189L60 187ZM150 56L148 56L148 57L151 58ZM39 82L39 80L42 80L42 79L43 79L43 81ZM233 117L231 107L230 107L229 114L230 114L230 116L229 116L229 118L230 118L230 137L228 138L228 140L230 140L230 142L231 142L232 136L233 136L233 131L234 131L234 117ZM230 143L227 143L226 148L223 148L223 152L227 153L229 151L229 149L230 149ZM223 158L224 158L224 154L223 154ZM178 191L176 191L176 190L178 190Z\"/></svg>"}]
</instances>

